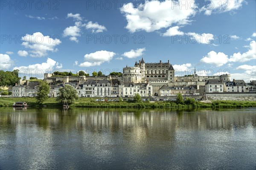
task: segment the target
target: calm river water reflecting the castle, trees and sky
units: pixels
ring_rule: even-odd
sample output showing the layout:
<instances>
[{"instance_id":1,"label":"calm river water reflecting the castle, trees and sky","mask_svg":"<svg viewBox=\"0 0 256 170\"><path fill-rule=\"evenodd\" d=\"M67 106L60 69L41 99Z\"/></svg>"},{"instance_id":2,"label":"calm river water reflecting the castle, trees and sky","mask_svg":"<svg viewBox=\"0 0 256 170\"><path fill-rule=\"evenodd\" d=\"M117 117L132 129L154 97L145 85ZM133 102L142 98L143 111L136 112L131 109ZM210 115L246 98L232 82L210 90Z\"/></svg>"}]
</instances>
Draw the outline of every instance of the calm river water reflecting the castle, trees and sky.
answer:
<instances>
[{"instance_id":1,"label":"calm river water reflecting the castle, trees and sky","mask_svg":"<svg viewBox=\"0 0 256 170\"><path fill-rule=\"evenodd\" d=\"M256 169L256 108L0 108L1 170Z\"/></svg>"}]
</instances>

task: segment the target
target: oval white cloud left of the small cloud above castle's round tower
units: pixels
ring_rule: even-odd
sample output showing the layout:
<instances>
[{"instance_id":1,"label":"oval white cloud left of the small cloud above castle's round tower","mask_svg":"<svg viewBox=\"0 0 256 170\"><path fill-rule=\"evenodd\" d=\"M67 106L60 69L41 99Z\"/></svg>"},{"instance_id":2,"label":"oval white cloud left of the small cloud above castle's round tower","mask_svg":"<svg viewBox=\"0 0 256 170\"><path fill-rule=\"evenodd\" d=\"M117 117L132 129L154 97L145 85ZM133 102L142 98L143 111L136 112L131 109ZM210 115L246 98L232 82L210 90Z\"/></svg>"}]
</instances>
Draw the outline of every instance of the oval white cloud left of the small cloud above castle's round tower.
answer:
<instances>
[{"instance_id":1,"label":"oval white cloud left of the small cloud above castle's round tower","mask_svg":"<svg viewBox=\"0 0 256 170\"><path fill-rule=\"evenodd\" d=\"M101 65L103 62L110 61L116 53L111 51L96 51L94 53L85 54L84 60L86 62L81 63L80 67L90 67L95 65Z\"/></svg>"}]
</instances>

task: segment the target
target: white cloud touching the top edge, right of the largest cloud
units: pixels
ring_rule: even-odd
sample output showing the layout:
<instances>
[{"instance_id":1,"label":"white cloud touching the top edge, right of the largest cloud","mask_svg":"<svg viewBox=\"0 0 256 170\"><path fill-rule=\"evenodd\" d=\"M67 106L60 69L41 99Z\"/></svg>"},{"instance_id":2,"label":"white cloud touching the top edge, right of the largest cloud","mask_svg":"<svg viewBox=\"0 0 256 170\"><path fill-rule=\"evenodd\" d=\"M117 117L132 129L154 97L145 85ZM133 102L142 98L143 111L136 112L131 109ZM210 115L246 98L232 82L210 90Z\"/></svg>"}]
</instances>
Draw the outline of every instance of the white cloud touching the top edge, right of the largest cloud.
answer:
<instances>
[{"instance_id":1,"label":"white cloud touching the top edge, right of the largest cloud","mask_svg":"<svg viewBox=\"0 0 256 170\"><path fill-rule=\"evenodd\" d=\"M243 2L244 0L206 0L200 11L204 11L205 15L233 11L239 9Z\"/></svg>"}]
</instances>

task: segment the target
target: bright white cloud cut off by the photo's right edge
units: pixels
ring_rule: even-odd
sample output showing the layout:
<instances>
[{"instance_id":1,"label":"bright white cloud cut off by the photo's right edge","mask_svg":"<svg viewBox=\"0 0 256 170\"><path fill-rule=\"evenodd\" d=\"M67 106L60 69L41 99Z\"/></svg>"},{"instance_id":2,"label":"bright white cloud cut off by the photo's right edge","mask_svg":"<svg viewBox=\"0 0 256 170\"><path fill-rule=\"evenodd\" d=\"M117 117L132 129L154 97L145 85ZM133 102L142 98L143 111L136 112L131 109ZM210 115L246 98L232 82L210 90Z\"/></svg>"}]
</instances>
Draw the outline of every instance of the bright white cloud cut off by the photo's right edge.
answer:
<instances>
[{"instance_id":1,"label":"bright white cloud cut off by the photo's right edge","mask_svg":"<svg viewBox=\"0 0 256 170\"><path fill-rule=\"evenodd\" d=\"M250 47L248 51L245 53L241 54L240 52L234 53L230 57L230 62L247 62L250 61L251 59L256 59L256 42L252 41L250 42Z\"/></svg>"}]
</instances>

